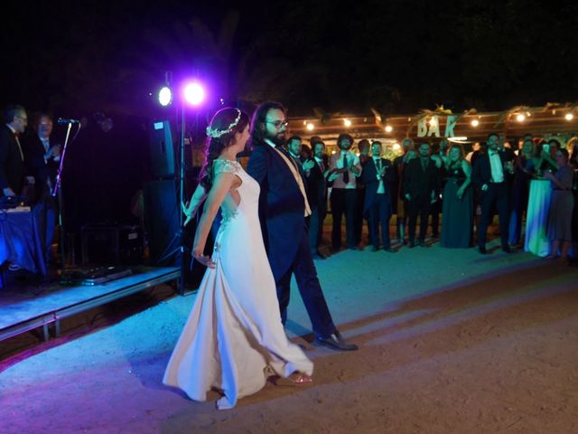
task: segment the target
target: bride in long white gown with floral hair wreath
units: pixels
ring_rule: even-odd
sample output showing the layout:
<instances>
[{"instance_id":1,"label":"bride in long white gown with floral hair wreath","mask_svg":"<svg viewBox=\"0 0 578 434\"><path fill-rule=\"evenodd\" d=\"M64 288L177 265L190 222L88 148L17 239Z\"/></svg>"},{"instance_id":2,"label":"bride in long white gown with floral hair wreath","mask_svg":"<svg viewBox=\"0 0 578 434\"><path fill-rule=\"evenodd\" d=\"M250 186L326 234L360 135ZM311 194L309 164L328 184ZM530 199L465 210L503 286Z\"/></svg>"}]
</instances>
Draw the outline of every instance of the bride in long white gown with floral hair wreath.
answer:
<instances>
[{"instance_id":1,"label":"bride in long white gown with floral hair wreath","mask_svg":"<svg viewBox=\"0 0 578 434\"><path fill-rule=\"evenodd\" d=\"M247 143L248 124L247 114L229 108L207 127L210 190L193 256L208 269L163 378L195 401L218 390L219 410L262 389L271 375L312 381L312 361L289 342L281 323L259 225L259 184L235 160ZM209 258L203 250L219 207L223 218Z\"/></svg>"}]
</instances>

